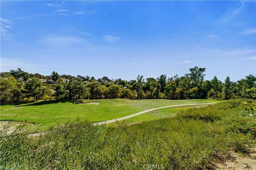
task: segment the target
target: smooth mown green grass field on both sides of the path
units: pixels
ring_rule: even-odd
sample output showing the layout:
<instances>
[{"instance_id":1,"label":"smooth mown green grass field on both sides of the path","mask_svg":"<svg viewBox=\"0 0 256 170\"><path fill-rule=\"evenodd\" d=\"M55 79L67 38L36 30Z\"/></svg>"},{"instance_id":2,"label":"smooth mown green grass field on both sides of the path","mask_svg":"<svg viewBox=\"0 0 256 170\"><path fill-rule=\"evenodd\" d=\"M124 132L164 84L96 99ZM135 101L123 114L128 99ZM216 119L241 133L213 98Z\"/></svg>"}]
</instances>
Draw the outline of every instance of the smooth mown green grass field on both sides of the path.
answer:
<instances>
[{"instance_id":1,"label":"smooth mown green grass field on both sides of the path","mask_svg":"<svg viewBox=\"0 0 256 170\"><path fill-rule=\"evenodd\" d=\"M19 105L0 106L0 120L28 121L34 123L30 132L46 130L57 123L66 123L77 118L88 120L89 122L106 121L116 119L162 106L178 104L201 104L219 102L217 100L128 100L128 99L101 99L83 100L84 103L100 102L93 104L73 104L74 101L37 101ZM138 118L131 118L131 121L152 120L170 117L176 113L174 108L157 110ZM166 111L168 113L166 114ZM169 112L170 111L170 112ZM171 113L171 114L170 114Z\"/></svg>"}]
</instances>

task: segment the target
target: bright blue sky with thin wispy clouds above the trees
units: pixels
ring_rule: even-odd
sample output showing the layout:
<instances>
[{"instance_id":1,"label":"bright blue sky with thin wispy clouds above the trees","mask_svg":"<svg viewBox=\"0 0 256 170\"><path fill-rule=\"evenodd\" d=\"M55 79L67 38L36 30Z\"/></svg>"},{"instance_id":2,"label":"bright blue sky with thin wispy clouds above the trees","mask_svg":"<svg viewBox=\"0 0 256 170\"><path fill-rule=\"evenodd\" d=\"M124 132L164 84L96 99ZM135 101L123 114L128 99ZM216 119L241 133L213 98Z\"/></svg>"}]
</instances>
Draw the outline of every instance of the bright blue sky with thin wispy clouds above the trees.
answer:
<instances>
[{"instance_id":1,"label":"bright blue sky with thin wispy clouds above the trees","mask_svg":"<svg viewBox=\"0 0 256 170\"><path fill-rule=\"evenodd\" d=\"M0 1L1 72L256 74L255 1Z\"/></svg>"}]
</instances>

